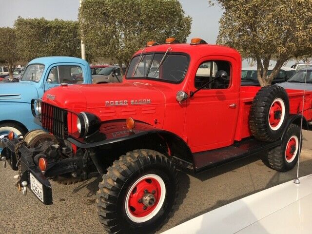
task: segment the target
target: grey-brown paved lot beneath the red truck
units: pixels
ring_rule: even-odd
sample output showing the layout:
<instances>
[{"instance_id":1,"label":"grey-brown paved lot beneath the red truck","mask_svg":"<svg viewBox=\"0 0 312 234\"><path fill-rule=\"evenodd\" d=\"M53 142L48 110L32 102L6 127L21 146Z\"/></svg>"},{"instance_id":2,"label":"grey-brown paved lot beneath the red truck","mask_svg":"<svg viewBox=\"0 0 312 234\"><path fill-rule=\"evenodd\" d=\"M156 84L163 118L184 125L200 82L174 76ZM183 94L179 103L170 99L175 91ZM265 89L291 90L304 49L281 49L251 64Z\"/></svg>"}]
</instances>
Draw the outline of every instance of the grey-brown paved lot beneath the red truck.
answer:
<instances>
[{"instance_id":1,"label":"grey-brown paved lot beneath the red truck","mask_svg":"<svg viewBox=\"0 0 312 234\"><path fill-rule=\"evenodd\" d=\"M176 212L161 231L197 215L292 180L287 173L266 166L266 154L236 161L200 175L179 173L180 195ZM312 173L312 132L304 131L300 176ZM95 207L99 178L75 185L52 183L54 204L41 204L31 192L24 197L14 187L16 172L0 165L0 233L105 234ZM159 232L159 233L160 233Z\"/></svg>"}]
</instances>

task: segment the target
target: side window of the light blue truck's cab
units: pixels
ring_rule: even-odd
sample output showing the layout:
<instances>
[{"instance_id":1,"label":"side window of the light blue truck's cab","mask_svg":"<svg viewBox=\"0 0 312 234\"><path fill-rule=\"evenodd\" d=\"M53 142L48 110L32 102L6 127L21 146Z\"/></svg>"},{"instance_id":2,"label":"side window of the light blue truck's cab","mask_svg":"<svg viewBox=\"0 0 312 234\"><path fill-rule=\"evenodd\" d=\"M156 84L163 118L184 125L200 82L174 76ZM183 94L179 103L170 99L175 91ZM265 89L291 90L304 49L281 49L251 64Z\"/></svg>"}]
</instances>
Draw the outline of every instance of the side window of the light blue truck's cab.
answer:
<instances>
[{"instance_id":1,"label":"side window of the light blue truck's cab","mask_svg":"<svg viewBox=\"0 0 312 234\"><path fill-rule=\"evenodd\" d=\"M50 70L48 75L48 82L81 84L83 83L83 72L79 66L57 66Z\"/></svg>"}]
</instances>

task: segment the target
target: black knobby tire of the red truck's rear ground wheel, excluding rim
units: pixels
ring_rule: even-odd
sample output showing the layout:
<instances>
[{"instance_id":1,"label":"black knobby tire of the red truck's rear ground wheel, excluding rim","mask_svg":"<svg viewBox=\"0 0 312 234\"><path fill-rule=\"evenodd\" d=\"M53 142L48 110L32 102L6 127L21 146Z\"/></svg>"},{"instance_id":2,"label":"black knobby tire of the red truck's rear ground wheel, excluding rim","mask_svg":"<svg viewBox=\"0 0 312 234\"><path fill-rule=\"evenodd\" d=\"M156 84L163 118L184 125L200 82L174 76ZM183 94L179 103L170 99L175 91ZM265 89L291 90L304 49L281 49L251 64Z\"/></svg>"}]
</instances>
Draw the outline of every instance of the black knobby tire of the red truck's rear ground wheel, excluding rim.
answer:
<instances>
[{"instance_id":1,"label":"black knobby tire of the red truck's rear ground wheel, excluding rim","mask_svg":"<svg viewBox=\"0 0 312 234\"><path fill-rule=\"evenodd\" d=\"M297 150L292 161L290 160L287 161L286 150L288 142L292 136L297 137L298 145L300 145L300 150ZM285 136L282 139L281 145L269 151L268 154L269 164L274 170L280 172L287 172L289 170L292 170L292 168L296 165L298 161L299 153L301 151L302 135L301 135L301 143L299 143L299 140L300 140L300 127L296 124L291 124L287 129ZM299 146L297 147L297 149L298 148Z\"/></svg>"}]
</instances>

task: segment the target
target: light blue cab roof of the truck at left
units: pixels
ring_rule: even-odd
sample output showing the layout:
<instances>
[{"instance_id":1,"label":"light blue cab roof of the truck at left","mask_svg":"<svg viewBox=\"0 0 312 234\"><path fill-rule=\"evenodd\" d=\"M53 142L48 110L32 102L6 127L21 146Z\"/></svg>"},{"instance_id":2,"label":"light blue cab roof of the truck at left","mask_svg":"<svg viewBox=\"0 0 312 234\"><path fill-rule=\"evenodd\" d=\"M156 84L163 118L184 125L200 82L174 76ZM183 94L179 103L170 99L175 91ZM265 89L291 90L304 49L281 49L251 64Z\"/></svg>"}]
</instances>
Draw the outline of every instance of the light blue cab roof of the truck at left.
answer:
<instances>
[{"instance_id":1,"label":"light blue cab roof of the truck at left","mask_svg":"<svg viewBox=\"0 0 312 234\"><path fill-rule=\"evenodd\" d=\"M84 59L79 59L75 57L67 57L67 56L50 56L50 57L41 57L37 59L31 60L28 64L34 64L34 63L42 63L46 66L49 66L54 63L80 63L85 66L89 66L89 63Z\"/></svg>"}]
</instances>

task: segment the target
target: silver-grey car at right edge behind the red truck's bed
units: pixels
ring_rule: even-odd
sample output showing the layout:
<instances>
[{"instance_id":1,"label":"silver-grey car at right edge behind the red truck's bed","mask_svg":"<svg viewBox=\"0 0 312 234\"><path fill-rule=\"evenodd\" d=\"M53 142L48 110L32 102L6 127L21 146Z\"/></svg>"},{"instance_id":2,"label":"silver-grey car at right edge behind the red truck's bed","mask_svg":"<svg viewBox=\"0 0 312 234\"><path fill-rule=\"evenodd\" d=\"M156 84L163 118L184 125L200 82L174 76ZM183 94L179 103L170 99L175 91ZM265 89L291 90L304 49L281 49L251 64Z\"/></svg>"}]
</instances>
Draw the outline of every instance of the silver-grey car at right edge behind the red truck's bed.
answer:
<instances>
[{"instance_id":1,"label":"silver-grey car at right edge behind the red truck's bed","mask_svg":"<svg viewBox=\"0 0 312 234\"><path fill-rule=\"evenodd\" d=\"M285 89L312 90L312 66L299 70L286 82L278 85Z\"/></svg>"}]
</instances>

